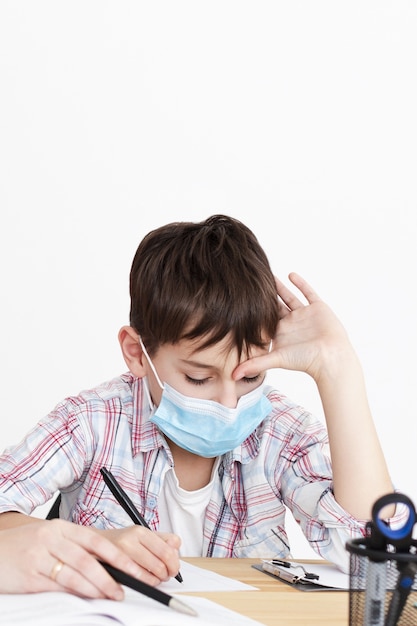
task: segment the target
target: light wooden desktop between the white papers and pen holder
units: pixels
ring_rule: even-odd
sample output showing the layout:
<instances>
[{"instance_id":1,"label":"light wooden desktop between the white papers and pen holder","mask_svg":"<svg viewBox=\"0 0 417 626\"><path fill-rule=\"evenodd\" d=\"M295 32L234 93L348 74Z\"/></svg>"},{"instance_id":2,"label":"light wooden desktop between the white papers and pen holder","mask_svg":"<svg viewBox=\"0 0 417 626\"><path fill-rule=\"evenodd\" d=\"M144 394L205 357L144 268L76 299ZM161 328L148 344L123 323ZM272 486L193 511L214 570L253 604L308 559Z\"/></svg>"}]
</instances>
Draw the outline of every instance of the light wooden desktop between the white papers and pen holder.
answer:
<instances>
[{"instance_id":1,"label":"light wooden desktop between the white papers and pen holder","mask_svg":"<svg viewBox=\"0 0 417 626\"><path fill-rule=\"evenodd\" d=\"M348 591L300 591L254 569L260 559L186 558L259 591L195 593L266 626L348 626Z\"/></svg>"}]
</instances>

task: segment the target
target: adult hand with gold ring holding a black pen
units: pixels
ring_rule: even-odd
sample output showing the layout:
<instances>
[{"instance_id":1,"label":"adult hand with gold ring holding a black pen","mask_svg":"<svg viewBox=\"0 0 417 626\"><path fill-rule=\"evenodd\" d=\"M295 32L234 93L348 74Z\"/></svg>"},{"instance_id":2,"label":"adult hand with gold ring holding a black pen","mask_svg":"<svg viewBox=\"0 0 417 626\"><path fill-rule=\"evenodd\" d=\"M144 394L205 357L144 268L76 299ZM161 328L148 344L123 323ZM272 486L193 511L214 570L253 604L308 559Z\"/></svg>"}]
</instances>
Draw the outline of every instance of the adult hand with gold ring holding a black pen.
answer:
<instances>
[{"instance_id":1,"label":"adult hand with gold ring holding a black pen","mask_svg":"<svg viewBox=\"0 0 417 626\"><path fill-rule=\"evenodd\" d=\"M141 568L91 528L56 519L0 530L0 593L67 591L121 600L122 587L97 559L141 578Z\"/></svg>"}]
</instances>

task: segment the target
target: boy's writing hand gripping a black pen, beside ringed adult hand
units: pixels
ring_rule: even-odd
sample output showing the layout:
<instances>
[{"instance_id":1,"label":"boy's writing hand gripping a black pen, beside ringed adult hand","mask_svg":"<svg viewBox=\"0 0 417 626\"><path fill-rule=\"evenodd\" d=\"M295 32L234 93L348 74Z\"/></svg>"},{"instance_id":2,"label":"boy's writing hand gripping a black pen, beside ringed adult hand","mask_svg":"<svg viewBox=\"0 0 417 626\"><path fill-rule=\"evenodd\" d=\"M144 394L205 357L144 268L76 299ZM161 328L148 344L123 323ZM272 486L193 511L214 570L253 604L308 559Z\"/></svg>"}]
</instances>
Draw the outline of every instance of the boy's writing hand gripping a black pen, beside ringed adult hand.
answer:
<instances>
[{"instance_id":1,"label":"boy's writing hand gripping a black pen, beside ringed adult hand","mask_svg":"<svg viewBox=\"0 0 417 626\"><path fill-rule=\"evenodd\" d=\"M96 530L140 566L140 579L157 585L176 576L180 569L178 535L160 533L143 526L128 526L111 530Z\"/></svg>"}]
</instances>

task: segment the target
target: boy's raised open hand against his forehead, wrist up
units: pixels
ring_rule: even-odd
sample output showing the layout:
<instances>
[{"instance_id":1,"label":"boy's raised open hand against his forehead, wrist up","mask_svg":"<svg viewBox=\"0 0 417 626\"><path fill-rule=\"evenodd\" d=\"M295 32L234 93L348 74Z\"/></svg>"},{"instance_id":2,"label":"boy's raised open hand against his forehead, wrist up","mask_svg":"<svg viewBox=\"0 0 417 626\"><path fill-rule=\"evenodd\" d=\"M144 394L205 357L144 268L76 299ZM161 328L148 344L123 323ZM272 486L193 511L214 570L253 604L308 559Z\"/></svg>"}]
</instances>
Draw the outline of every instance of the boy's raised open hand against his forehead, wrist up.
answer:
<instances>
[{"instance_id":1,"label":"boy's raised open hand against his forehead, wrist up","mask_svg":"<svg viewBox=\"0 0 417 626\"><path fill-rule=\"evenodd\" d=\"M241 363L235 379L283 368L305 372L318 383L338 353L352 351L345 329L328 305L301 276L291 273L289 279L306 303L275 278L280 320L271 351Z\"/></svg>"}]
</instances>

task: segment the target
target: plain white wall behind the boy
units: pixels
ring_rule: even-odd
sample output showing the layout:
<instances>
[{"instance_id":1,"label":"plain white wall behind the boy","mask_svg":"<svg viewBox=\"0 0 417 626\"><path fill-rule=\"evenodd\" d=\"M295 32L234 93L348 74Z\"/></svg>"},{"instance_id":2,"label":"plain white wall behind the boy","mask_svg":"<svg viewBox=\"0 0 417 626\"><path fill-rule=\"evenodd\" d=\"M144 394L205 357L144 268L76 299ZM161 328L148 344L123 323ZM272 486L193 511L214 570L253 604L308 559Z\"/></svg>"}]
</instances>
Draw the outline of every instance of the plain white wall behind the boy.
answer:
<instances>
[{"instance_id":1,"label":"plain white wall behind the boy","mask_svg":"<svg viewBox=\"0 0 417 626\"><path fill-rule=\"evenodd\" d=\"M416 31L402 0L1 0L1 448L124 371L145 233L223 212L343 319L417 501Z\"/></svg>"}]
</instances>

